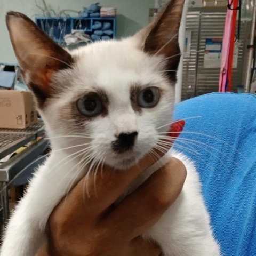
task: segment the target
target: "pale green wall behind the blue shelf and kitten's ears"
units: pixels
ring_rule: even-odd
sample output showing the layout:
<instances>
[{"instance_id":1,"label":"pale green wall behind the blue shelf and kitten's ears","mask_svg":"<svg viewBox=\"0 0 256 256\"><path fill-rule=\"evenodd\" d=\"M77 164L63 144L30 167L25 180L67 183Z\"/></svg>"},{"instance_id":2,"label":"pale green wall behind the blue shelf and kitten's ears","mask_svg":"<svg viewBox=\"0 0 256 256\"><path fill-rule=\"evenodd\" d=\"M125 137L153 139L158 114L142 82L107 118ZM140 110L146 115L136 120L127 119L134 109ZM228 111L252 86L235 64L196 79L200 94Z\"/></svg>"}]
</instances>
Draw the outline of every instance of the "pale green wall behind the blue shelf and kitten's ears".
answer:
<instances>
[{"instance_id":1,"label":"pale green wall behind the blue shelf and kitten's ears","mask_svg":"<svg viewBox=\"0 0 256 256\"><path fill-rule=\"evenodd\" d=\"M54 10L82 10L97 0L45 0ZM134 34L148 23L149 8L154 7L154 0L99 0L104 7L117 8L117 38ZM0 0L0 63L17 63L9 35L5 26L5 13L19 11L35 18L40 14L36 4L43 6L41 0Z\"/></svg>"}]
</instances>

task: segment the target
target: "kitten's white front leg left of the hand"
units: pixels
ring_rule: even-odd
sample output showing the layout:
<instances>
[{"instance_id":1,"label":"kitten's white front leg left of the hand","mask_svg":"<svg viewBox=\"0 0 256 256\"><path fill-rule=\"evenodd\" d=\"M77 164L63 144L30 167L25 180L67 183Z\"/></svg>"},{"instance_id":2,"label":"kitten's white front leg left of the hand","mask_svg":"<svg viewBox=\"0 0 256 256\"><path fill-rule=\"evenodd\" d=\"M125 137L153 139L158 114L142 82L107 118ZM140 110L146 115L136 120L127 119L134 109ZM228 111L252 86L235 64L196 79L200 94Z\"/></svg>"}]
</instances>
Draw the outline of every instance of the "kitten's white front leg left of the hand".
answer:
<instances>
[{"instance_id":1,"label":"kitten's white front leg left of the hand","mask_svg":"<svg viewBox=\"0 0 256 256\"><path fill-rule=\"evenodd\" d=\"M35 256L45 241L45 227L55 205L66 194L70 176L65 170L42 166L31 181L25 197L12 214L4 235L0 256ZM55 164L55 162L53 161ZM70 166L65 166L70 170ZM81 174L82 175L82 174ZM81 176L79 175L77 179Z\"/></svg>"}]
</instances>

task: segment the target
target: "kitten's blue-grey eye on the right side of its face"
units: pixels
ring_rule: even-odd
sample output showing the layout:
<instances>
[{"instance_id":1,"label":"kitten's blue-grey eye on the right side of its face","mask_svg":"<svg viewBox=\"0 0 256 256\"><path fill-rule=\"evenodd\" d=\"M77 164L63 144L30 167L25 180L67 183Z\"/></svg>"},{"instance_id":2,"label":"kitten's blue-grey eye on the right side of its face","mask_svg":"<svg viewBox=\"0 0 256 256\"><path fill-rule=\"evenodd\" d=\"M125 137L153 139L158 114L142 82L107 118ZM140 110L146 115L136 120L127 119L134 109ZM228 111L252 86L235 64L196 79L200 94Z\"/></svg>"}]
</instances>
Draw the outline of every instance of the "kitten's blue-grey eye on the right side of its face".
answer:
<instances>
[{"instance_id":1,"label":"kitten's blue-grey eye on the right side of its face","mask_svg":"<svg viewBox=\"0 0 256 256\"><path fill-rule=\"evenodd\" d=\"M137 103L142 108L153 108L160 98L159 90L156 87L148 87L137 95Z\"/></svg>"}]
</instances>

